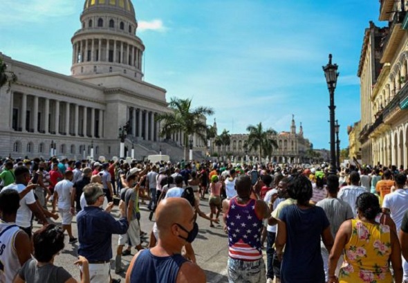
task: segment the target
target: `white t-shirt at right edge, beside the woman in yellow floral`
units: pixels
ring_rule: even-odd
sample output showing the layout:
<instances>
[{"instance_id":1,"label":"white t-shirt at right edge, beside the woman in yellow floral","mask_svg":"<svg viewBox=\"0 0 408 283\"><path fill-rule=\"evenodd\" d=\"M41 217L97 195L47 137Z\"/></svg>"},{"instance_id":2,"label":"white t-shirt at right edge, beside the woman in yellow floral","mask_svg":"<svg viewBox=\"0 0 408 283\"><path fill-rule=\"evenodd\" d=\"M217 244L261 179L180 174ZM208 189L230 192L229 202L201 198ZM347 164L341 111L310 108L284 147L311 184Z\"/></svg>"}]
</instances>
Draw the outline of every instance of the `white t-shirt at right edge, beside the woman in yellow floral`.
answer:
<instances>
[{"instance_id":1,"label":"white t-shirt at right edge, beside the woman in yellow floral","mask_svg":"<svg viewBox=\"0 0 408 283\"><path fill-rule=\"evenodd\" d=\"M382 208L391 211L391 218L396 223L397 231L401 228L402 218L408 210L408 190L397 189L395 192L386 194L382 201Z\"/></svg>"}]
</instances>

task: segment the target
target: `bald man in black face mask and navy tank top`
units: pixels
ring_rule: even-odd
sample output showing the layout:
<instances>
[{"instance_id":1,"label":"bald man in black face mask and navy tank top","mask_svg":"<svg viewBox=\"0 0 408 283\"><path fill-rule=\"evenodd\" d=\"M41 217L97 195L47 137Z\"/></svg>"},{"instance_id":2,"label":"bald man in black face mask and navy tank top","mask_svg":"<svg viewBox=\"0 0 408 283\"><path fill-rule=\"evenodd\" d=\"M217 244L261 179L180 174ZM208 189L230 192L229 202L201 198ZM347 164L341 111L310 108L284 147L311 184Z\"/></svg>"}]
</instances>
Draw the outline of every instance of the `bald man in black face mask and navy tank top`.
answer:
<instances>
[{"instance_id":1,"label":"bald man in black face mask and navy tank top","mask_svg":"<svg viewBox=\"0 0 408 283\"><path fill-rule=\"evenodd\" d=\"M126 282L206 282L204 271L181 255L183 246L191 243L198 232L188 201L181 198L160 201L156 209L156 223L157 246L141 250L133 257Z\"/></svg>"}]
</instances>

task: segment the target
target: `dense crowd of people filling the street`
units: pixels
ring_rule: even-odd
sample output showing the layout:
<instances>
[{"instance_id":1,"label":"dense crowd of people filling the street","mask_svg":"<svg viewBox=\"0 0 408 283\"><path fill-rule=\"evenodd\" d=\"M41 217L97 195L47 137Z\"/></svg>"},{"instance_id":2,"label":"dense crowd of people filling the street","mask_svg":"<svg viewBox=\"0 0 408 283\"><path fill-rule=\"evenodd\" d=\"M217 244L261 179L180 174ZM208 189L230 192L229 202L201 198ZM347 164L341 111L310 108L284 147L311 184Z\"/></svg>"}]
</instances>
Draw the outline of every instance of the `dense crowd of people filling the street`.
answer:
<instances>
[{"instance_id":1,"label":"dense crowd of people filling the street","mask_svg":"<svg viewBox=\"0 0 408 283\"><path fill-rule=\"evenodd\" d=\"M228 235L229 282L408 282L407 173L358 163L334 173L324 164L6 158L0 282L77 282L53 264L65 233L78 242L80 282L120 282L111 259L126 282L206 282L192 245L198 216ZM150 231L140 228L140 206L154 219ZM34 232L33 221L42 225Z\"/></svg>"}]
</instances>

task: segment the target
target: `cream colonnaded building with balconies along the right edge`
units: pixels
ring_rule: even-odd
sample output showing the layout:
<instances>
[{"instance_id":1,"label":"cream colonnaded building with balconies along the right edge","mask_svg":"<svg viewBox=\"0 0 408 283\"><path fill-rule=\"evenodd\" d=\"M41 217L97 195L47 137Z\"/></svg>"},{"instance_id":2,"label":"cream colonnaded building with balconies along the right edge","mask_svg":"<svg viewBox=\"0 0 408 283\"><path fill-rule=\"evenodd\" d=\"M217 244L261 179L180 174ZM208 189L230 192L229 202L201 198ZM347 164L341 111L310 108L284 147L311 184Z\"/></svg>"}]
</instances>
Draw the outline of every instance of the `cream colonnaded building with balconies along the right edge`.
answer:
<instances>
[{"instance_id":1,"label":"cream colonnaded building with balconies along the right edge","mask_svg":"<svg viewBox=\"0 0 408 283\"><path fill-rule=\"evenodd\" d=\"M364 36L367 58L363 66L360 60L359 67L360 78L365 77L361 80L363 163L408 165L407 4L408 1L380 1L379 18L387 21L388 27L376 28L371 23Z\"/></svg>"}]
</instances>

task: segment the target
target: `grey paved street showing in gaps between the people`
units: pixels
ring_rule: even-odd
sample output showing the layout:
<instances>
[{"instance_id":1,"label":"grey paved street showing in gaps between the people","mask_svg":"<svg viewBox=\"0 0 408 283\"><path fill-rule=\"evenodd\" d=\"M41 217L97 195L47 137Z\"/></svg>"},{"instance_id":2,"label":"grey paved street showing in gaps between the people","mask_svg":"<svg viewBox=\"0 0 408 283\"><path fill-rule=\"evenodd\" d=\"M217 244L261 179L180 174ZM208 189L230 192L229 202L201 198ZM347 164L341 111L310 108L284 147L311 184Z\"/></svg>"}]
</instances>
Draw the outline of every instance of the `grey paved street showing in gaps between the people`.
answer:
<instances>
[{"instance_id":1,"label":"grey paved street showing in gaps between the people","mask_svg":"<svg viewBox=\"0 0 408 283\"><path fill-rule=\"evenodd\" d=\"M150 232L151 227L153 226L153 221L149 221L149 211L147 210L145 205L140 205L141 210L141 219L140 225L142 230L145 232ZM208 207L207 201L201 201L201 210L207 213L210 212L210 208ZM113 209L112 212L115 217L118 216L118 210ZM61 219L57 220L59 223ZM220 220L221 217L220 217ZM197 263L205 273L207 274L207 282L228 282L228 277L226 273L226 266L227 266L227 257L228 257L228 239L227 235L223 232L221 224L218 226L215 225L215 228L210 228L209 221L198 217L197 220L198 226L200 231L196 240L193 243L193 247L196 253ZM35 229L39 226L35 222ZM77 226L76 226L76 219L73 219L73 235L77 237ZM143 246L147 245L148 239L145 239L143 242ZM114 273L114 258L115 258L115 249L118 244L118 235L113 235L112 237L113 243L113 259L111 260L111 273L113 278L122 278L122 282L124 282L124 273L116 275ZM64 266L71 273L77 280L79 280L80 272L77 266L73 265L75 262L76 255L77 255L77 245L75 244L68 244L68 236L66 237L66 245L62 253L58 255L55 259L55 265L57 266ZM132 254L134 255L135 249L132 248ZM122 264L124 264L124 268L127 269L129 262L131 261L132 256L125 256L122 257Z\"/></svg>"}]
</instances>

